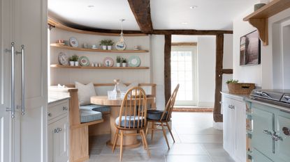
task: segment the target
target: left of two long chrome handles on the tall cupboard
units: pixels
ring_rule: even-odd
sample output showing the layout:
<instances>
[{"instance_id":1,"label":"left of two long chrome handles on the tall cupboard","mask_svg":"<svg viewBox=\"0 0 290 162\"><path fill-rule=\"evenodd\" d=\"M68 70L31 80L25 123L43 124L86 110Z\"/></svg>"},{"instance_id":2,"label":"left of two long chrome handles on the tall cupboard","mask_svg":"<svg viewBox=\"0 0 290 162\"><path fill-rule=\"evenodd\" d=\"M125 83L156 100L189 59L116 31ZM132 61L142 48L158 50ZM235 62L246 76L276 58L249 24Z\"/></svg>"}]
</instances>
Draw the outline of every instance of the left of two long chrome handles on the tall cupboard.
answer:
<instances>
[{"instance_id":1,"label":"left of two long chrome handles on the tall cupboard","mask_svg":"<svg viewBox=\"0 0 290 162\"><path fill-rule=\"evenodd\" d=\"M10 100L10 108L6 108L6 111L11 111L11 118L15 118L15 47L14 42L11 42L11 49L6 49L6 53L11 53L11 100Z\"/></svg>"}]
</instances>

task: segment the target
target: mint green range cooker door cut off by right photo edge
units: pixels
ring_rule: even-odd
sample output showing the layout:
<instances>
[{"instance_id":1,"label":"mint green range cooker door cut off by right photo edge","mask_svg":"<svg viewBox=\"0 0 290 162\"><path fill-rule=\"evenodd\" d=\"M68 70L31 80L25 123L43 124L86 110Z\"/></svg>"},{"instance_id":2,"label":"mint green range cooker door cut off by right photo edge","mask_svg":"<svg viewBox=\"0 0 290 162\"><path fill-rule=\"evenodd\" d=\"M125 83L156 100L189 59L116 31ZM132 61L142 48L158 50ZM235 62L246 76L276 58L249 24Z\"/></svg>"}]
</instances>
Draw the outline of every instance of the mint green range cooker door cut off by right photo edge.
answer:
<instances>
[{"instance_id":1,"label":"mint green range cooker door cut off by right photo edge","mask_svg":"<svg viewBox=\"0 0 290 162\"><path fill-rule=\"evenodd\" d=\"M282 140L275 142L275 148L277 157L283 161L290 161L290 134L288 134L287 129L290 130L290 114L280 112L277 116L277 136L282 137ZM283 131L284 129L284 131Z\"/></svg>"}]
</instances>

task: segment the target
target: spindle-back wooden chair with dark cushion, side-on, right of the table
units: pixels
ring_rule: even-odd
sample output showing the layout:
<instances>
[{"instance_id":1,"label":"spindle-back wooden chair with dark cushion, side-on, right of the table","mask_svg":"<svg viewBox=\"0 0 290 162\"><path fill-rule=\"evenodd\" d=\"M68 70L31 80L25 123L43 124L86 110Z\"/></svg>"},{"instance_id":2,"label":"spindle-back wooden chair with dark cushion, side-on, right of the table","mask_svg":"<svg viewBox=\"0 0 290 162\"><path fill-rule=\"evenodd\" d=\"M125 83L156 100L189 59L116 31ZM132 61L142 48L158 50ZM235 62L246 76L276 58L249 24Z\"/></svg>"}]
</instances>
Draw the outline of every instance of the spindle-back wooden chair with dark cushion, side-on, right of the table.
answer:
<instances>
[{"instance_id":1,"label":"spindle-back wooden chair with dark cushion, side-on, right of the table","mask_svg":"<svg viewBox=\"0 0 290 162\"><path fill-rule=\"evenodd\" d=\"M169 98L166 107L164 108L164 111L158 111L158 110L148 110L147 111L147 122L146 122L146 134L148 132L148 129L151 130L151 140L153 139L153 133L155 130L162 130L164 134L164 138L166 140L168 149L170 149L168 144L168 139L166 136L166 129L167 127L169 133L171 133L171 137L173 139L173 143L175 143L173 133L171 131L171 127L169 126L168 122L171 121L171 113L173 111L173 106L175 104L175 98L177 95L177 91L179 88L179 84L177 84L175 90L173 91L171 97ZM149 122L151 122L151 128L149 128ZM159 129L161 127L161 129Z\"/></svg>"}]
</instances>

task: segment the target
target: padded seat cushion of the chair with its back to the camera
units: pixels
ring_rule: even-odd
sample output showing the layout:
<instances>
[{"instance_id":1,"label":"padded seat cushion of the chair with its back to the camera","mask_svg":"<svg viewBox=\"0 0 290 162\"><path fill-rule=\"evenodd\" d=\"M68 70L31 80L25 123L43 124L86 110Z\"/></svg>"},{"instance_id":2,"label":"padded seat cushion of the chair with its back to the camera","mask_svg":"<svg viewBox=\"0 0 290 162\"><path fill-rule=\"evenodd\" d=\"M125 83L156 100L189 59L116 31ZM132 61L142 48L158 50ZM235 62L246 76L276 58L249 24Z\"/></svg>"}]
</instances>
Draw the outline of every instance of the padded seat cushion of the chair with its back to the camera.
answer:
<instances>
[{"instance_id":1,"label":"padded seat cushion of the chair with its back to the camera","mask_svg":"<svg viewBox=\"0 0 290 162\"><path fill-rule=\"evenodd\" d=\"M131 118L131 122L130 122L130 118ZM117 126L119 127L126 127L126 128L129 128L129 125L131 128L133 128L133 121L135 120L135 127L138 127L138 119L139 119L139 127L140 127L140 124L141 124L141 120L143 120L143 126L145 125L145 121L144 121L144 118L142 117L139 117L136 116L134 118L134 116L126 116L126 123L125 123L125 116L122 116L122 120L121 120L121 124L119 123L119 117L116 118L115 120L115 123Z\"/></svg>"}]
</instances>

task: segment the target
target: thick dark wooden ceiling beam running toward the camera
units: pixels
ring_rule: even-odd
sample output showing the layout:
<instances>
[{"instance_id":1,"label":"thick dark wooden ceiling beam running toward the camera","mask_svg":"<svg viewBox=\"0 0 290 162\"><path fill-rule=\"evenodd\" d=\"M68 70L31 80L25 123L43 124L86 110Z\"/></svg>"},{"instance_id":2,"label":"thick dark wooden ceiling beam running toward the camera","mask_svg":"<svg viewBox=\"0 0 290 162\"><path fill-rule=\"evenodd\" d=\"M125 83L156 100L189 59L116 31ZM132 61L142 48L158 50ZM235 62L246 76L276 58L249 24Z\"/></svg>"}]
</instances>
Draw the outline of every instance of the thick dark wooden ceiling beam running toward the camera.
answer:
<instances>
[{"instance_id":1,"label":"thick dark wooden ceiling beam running toward the camera","mask_svg":"<svg viewBox=\"0 0 290 162\"><path fill-rule=\"evenodd\" d=\"M153 25L150 13L150 0L128 0L135 19L143 33L152 33Z\"/></svg>"}]
</instances>

